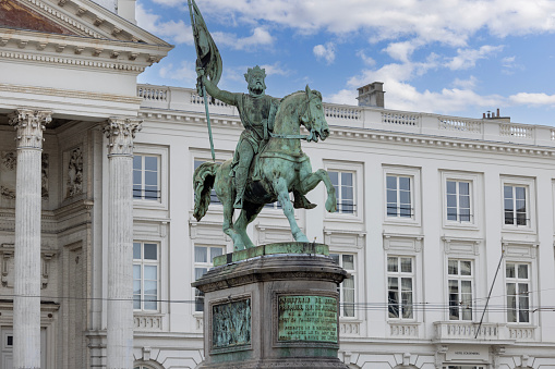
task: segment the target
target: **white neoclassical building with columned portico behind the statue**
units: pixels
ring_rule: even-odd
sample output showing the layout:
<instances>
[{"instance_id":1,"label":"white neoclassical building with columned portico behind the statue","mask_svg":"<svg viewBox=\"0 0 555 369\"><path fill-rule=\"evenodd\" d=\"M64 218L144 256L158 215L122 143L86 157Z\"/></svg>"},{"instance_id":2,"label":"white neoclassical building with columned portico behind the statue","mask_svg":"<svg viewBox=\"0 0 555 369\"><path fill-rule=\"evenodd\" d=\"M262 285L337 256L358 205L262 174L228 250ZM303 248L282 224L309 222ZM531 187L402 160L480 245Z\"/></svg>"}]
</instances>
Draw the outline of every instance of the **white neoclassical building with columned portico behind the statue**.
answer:
<instances>
[{"instance_id":1,"label":"white neoclassical building with columned portico behind the statue","mask_svg":"<svg viewBox=\"0 0 555 369\"><path fill-rule=\"evenodd\" d=\"M192 172L210 160L202 99L137 86L171 46L93 2L3 3L46 28L0 26L0 369L195 368L191 282L232 250L216 199L192 217ZM339 211L325 212L321 185L295 217L352 275L340 358L554 369L555 128L325 110L330 137L303 149L330 172ZM226 160L240 119L218 101L210 114ZM278 205L249 232L291 239Z\"/></svg>"}]
</instances>

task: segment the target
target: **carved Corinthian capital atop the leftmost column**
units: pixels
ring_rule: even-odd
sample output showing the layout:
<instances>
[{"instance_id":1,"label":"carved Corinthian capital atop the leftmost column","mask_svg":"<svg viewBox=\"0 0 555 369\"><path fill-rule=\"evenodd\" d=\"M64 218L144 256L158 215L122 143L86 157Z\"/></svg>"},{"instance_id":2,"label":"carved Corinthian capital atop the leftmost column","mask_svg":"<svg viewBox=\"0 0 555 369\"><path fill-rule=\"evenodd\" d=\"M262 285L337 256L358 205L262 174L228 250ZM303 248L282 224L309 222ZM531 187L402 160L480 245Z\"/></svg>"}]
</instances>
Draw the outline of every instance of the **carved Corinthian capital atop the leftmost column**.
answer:
<instances>
[{"instance_id":1,"label":"carved Corinthian capital atop the leftmost column","mask_svg":"<svg viewBox=\"0 0 555 369\"><path fill-rule=\"evenodd\" d=\"M9 119L17 131L17 148L43 148L43 131L52 121L51 111L23 108L11 113Z\"/></svg>"}]
</instances>

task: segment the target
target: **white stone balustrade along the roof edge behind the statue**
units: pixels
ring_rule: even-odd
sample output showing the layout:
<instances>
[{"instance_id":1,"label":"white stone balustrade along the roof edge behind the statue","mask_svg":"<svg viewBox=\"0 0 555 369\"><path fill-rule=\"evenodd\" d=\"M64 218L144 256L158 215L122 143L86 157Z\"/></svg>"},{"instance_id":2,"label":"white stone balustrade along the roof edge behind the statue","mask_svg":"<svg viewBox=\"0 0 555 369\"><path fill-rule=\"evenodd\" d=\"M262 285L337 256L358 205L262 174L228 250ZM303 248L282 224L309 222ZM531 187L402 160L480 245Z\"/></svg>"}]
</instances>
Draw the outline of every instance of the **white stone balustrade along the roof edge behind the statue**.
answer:
<instances>
[{"instance_id":1,"label":"white stone balustrade along the roof edge behind the statue","mask_svg":"<svg viewBox=\"0 0 555 369\"><path fill-rule=\"evenodd\" d=\"M143 111L164 109L204 114L204 98L195 89L138 85L137 96L143 98ZM210 113L239 119L237 109L209 98ZM555 147L555 130L550 126L508 123L495 119L469 119L431 113L396 111L324 103L328 124L336 130L371 130L408 133L443 138L485 140L517 145ZM533 123L533 122L530 122ZM239 125L238 125L239 126Z\"/></svg>"}]
</instances>

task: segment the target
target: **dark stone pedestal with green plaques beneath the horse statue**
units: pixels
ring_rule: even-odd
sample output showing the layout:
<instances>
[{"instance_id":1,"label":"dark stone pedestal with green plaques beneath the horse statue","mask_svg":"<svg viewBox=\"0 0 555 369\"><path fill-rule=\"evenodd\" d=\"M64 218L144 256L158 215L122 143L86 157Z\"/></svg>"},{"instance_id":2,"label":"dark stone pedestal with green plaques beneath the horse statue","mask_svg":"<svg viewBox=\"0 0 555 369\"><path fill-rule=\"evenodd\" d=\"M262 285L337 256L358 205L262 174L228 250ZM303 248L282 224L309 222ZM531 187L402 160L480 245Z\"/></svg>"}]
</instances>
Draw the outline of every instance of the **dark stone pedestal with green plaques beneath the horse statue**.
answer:
<instances>
[{"instance_id":1,"label":"dark stone pedestal with green plaques beneath the horse statue","mask_svg":"<svg viewBox=\"0 0 555 369\"><path fill-rule=\"evenodd\" d=\"M215 258L205 293L200 368L347 368L338 358L338 284L323 244L283 243Z\"/></svg>"}]
</instances>

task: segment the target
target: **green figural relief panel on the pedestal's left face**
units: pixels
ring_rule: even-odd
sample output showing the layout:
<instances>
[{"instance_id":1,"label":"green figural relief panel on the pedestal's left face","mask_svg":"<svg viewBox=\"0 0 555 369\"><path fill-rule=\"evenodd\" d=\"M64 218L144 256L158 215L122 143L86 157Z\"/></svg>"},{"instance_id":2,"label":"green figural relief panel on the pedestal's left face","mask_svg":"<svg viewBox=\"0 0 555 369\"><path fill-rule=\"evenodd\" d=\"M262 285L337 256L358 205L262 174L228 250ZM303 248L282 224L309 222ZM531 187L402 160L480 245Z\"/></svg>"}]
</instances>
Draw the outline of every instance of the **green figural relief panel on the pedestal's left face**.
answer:
<instances>
[{"instance_id":1,"label":"green figural relief panel on the pedestal's left face","mask_svg":"<svg viewBox=\"0 0 555 369\"><path fill-rule=\"evenodd\" d=\"M251 299L213 305L212 347L233 348L251 343Z\"/></svg>"}]
</instances>

